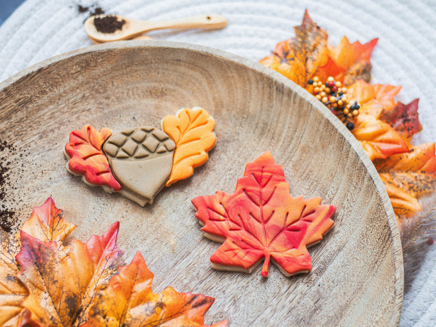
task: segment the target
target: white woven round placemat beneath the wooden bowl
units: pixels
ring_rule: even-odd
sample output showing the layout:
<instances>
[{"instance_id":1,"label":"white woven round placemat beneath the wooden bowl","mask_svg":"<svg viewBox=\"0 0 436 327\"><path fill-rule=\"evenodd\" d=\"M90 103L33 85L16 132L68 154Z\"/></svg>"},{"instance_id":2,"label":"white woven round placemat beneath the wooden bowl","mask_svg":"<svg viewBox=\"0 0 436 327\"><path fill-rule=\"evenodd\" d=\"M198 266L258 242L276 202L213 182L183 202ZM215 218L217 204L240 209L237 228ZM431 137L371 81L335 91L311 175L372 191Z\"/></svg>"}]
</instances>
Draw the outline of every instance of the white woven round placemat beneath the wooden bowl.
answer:
<instances>
[{"instance_id":1,"label":"white woven round placemat beneath the wooden bowl","mask_svg":"<svg viewBox=\"0 0 436 327\"><path fill-rule=\"evenodd\" d=\"M108 14L167 20L221 14L221 31L154 32L156 39L200 44L259 61L293 37L304 10L327 30L329 44L379 37L372 56L374 83L402 85L398 100L419 100L423 131L414 143L436 141L436 0L27 0L0 27L0 81L54 55L91 45L78 4ZM436 325L436 245L405 294L400 326Z\"/></svg>"}]
</instances>

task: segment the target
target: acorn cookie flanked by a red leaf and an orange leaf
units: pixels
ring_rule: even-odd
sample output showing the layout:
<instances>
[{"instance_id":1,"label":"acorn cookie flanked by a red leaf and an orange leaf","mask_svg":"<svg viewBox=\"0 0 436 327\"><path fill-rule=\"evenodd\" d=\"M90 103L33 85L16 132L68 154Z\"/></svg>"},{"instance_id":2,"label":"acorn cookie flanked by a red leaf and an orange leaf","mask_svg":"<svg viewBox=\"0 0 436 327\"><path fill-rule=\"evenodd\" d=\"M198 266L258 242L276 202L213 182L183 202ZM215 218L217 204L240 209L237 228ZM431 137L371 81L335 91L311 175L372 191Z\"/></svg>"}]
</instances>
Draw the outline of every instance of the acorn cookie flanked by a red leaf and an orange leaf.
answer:
<instances>
[{"instance_id":1,"label":"acorn cookie flanked by a red leaf and an orange leaf","mask_svg":"<svg viewBox=\"0 0 436 327\"><path fill-rule=\"evenodd\" d=\"M202 108L181 109L162 125L164 130L141 126L115 134L90 125L73 131L64 151L67 170L86 184L151 204L165 185L190 177L204 164L216 143L215 120Z\"/></svg>"}]
</instances>

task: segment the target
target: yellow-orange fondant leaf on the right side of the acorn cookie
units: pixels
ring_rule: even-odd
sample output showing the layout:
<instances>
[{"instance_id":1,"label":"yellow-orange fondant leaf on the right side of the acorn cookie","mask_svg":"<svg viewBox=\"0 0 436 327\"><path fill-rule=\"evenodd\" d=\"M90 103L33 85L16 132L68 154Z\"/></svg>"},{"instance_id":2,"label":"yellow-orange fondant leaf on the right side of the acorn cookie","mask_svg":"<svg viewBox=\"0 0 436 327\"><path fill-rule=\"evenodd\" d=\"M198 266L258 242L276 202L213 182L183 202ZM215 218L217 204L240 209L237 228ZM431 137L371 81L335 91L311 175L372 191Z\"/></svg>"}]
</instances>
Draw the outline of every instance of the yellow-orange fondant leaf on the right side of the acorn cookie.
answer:
<instances>
[{"instance_id":1,"label":"yellow-orange fondant leaf on the right side of the acorn cookie","mask_svg":"<svg viewBox=\"0 0 436 327\"><path fill-rule=\"evenodd\" d=\"M176 143L173 168L166 186L190 177L195 167L208 160L208 151L217 140L212 133L214 127L215 120L201 108L182 109L178 117L168 115L164 118L162 129Z\"/></svg>"}]
</instances>

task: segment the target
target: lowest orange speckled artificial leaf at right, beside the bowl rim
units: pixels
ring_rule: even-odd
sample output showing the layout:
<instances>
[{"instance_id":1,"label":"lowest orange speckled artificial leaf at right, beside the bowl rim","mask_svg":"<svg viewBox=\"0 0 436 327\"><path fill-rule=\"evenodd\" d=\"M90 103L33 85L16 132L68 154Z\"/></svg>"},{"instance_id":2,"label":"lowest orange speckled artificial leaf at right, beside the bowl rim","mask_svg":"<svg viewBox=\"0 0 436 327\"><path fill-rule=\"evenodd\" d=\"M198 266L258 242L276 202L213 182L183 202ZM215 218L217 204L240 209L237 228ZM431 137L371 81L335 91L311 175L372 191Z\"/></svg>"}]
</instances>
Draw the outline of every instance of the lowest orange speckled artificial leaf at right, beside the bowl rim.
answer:
<instances>
[{"instance_id":1,"label":"lowest orange speckled artificial leaf at right, beside the bowl rim","mask_svg":"<svg viewBox=\"0 0 436 327\"><path fill-rule=\"evenodd\" d=\"M435 143L413 146L409 153L396 154L387 160L375 160L374 165L398 219L407 219L420 211L418 197L435 191Z\"/></svg>"}]
</instances>

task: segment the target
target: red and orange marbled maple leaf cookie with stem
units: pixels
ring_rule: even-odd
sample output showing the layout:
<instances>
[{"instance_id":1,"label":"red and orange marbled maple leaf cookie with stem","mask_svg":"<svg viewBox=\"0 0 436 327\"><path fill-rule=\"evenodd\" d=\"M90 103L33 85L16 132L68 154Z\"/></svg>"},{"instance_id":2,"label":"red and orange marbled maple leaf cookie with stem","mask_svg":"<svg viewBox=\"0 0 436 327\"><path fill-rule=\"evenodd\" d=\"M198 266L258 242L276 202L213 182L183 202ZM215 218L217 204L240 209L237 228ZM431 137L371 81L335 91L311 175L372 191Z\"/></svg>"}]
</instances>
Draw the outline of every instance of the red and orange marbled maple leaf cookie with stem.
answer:
<instances>
[{"instance_id":1,"label":"red and orange marbled maple leaf cookie with stem","mask_svg":"<svg viewBox=\"0 0 436 327\"><path fill-rule=\"evenodd\" d=\"M217 191L192 200L201 230L224 242L211 256L212 267L252 272L265 258L264 277L270 259L286 276L312 268L306 247L333 227L330 218L336 210L320 202L291 197L283 167L270 152L246 165L232 194Z\"/></svg>"}]
</instances>

